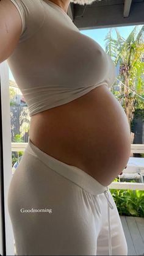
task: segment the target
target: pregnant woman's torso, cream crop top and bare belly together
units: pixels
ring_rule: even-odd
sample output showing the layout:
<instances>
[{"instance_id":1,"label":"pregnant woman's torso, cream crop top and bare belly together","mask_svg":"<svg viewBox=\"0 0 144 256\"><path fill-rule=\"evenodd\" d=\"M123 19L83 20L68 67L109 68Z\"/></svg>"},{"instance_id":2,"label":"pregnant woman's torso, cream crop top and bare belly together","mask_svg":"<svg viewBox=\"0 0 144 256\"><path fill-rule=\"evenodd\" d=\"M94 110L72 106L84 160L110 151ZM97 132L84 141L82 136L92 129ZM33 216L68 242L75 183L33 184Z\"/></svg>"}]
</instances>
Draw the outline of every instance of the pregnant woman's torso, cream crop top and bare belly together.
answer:
<instances>
[{"instance_id":1,"label":"pregnant woman's torso, cream crop top and bare belly together","mask_svg":"<svg viewBox=\"0 0 144 256\"><path fill-rule=\"evenodd\" d=\"M26 30L8 63L30 111L29 137L107 185L130 154L128 120L106 86L115 65L56 4L27 0L21 8Z\"/></svg>"}]
</instances>

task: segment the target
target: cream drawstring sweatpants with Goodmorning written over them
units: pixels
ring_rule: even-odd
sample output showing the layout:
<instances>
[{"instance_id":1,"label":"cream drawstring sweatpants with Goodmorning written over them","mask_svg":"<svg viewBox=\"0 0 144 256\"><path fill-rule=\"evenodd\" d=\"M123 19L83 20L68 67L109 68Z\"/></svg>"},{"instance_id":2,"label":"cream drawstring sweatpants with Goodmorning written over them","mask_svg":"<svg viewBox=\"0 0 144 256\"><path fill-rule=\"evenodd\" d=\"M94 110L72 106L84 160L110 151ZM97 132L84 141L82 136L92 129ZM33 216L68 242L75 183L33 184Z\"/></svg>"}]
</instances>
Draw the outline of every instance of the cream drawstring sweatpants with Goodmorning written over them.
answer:
<instances>
[{"instance_id":1,"label":"cream drawstring sweatpants with Goodmorning written over them","mask_svg":"<svg viewBox=\"0 0 144 256\"><path fill-rule=\"evenodd\" d=\"M29 139L9 187L16 255L128 255L109 188Z\"/></svg>"}]
</instances>

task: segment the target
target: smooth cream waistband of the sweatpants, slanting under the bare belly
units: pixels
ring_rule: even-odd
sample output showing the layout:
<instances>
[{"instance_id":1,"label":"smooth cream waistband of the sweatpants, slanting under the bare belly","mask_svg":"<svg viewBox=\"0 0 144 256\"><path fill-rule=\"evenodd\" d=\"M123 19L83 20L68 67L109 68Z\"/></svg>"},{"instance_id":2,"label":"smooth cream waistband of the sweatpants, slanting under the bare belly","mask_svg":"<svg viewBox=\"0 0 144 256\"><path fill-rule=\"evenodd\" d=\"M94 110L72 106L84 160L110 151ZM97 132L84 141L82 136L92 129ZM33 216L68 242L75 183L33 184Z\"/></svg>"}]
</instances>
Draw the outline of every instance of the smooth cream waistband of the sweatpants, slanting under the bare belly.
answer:
<instances>
[{"instance_id":1,"label":"smooth cream waistband of the sweatpants, slanting under the bare belly","mask_svg":"<svg viewBox=\"0 0 144 256\"><path fill-rule=\"evenodd\" d=\"M73 181L76 185L81 186L85 191L90 192L93 195L98 195L107 190L107 186L101 185L95 178L79 169L76 166L71 166L69 164L63 163L56 158L48 155L47 153L36 147L31 139L28 139L26 152L32 153L32 155L37 156L43 163L49 168L56 171L60 175L68 178L68 180Z\"/></svg>"}]
</instances>

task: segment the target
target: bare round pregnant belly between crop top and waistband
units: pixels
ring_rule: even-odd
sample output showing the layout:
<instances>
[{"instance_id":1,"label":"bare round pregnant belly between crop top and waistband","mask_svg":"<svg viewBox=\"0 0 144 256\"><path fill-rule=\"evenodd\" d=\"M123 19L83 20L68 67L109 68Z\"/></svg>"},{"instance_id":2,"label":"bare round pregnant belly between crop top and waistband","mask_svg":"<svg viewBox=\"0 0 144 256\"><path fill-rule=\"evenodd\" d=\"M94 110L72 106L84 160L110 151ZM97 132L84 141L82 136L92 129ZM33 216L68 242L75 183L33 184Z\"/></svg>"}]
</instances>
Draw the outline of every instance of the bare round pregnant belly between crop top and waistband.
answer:
<instances>
[{"instance_id":1,"label":"bare round pregnant belly between crop top and waistband","mask_svg":"<svg viewBox=\"0 0 144 256\"><path fill-rule=\"evenodd\" d=\"M103 85L70 103L33 115L29 137L43 152L107 186L128 163L130 134L121 104Z\"/></svg>"}]
</instances>

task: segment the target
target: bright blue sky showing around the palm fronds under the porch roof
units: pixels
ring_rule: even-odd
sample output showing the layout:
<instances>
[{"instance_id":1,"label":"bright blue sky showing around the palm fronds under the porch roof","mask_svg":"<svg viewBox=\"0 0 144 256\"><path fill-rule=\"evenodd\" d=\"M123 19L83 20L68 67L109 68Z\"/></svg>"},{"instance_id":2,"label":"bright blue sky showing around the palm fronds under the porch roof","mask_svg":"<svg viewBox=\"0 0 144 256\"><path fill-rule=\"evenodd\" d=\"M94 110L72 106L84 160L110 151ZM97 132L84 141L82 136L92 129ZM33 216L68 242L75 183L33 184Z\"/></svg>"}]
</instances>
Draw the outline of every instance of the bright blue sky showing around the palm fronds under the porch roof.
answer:
<instances>
[{"instance_id":1,"label":"bright blue sky showing around the palm fronds under the porch roof","mask_svg":"<svg viewBox=\"0 0 144 256\"><path fill-rule=\"evenodd\" d=\"M142 27L143 25L139 25L139 29ZM120 32L120 35L122 37L124 37L124 39L126 39L128 37L128 35L131 33L132 29L134 29L135 26L123 26L123 27L117 27L118 32ZM109 32L109 28L99 28L99 29L87 29L87 30L81 30L80 31L82 34L87 35L88 37L92 38L93 40L95 40L97 43L99 43L99 45L101 45L101 47L104 49L105 51L105 44L106 42L104 41L107 33ZM116 33L115 30L112 29L112 37L113 38L117 38L116 37ZM15 81L15 79L13 78L13 75L10 71L9 68L9 79L12 81Z\"/></svg>"}]
</instances>

